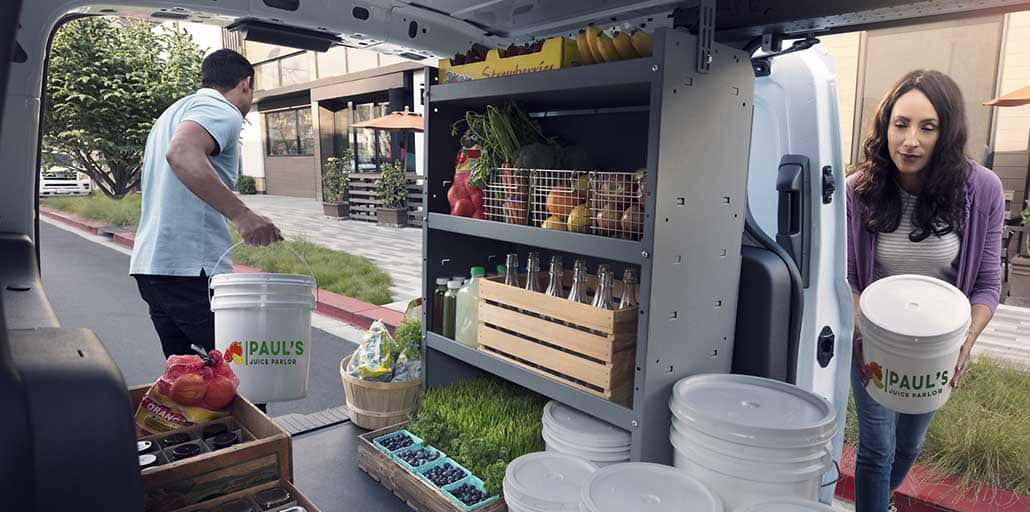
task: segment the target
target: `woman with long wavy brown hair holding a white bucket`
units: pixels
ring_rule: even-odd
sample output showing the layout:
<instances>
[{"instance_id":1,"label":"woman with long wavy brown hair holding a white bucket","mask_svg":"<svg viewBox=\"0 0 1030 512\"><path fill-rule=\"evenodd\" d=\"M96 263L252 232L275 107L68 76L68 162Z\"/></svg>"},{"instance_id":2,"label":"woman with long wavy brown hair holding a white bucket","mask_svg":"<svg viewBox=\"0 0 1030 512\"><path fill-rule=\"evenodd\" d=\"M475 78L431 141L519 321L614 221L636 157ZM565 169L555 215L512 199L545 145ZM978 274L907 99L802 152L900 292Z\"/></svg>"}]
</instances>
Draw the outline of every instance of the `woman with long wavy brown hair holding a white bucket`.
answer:
<instances>
[{"instance_id":1,"label":"woman with long wavy brown hair holding a white bucket","mask_svg":"<svg viewBox=\"0 0 1030 512\"><path fill-rule=\"evenodd\" d=\"M893 510L891 494L919 455L933 413L901 414L865 390L859 295L873 281L921 274L948 281L972 305L951 385L959 384L1001 288L1001 181L965 155L962 92L939 71L917 70L887 93L848 178L848 281L856 312L852 389L858 410L857 512Z\"/></svg>"}]
</instances>

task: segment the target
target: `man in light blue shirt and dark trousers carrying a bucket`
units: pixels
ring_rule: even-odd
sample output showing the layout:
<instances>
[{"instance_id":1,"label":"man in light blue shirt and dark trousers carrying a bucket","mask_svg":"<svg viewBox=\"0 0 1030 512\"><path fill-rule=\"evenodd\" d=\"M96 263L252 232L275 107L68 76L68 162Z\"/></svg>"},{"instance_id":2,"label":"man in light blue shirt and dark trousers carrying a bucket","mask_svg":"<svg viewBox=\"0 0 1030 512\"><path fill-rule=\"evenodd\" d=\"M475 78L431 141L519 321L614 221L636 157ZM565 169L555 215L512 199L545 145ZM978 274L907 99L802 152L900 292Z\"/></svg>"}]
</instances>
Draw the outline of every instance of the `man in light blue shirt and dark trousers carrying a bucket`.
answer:
<instances>
[{"instance_id":1,"label":"man in light blue shirt and dark trousers carrying a bucket","mask_svg":"<svg viewBox=\"0 0 1030 512\"><path fill-rule=\"evenodd\" d=\"M231 49L201 64L196 94L168 107L143 153L143 206L129 273L161 338L165 356L214 348L208 277L231 272L227 219L243 241L282 237L271 220L233 193L240 168L240 128L253 102L254 68Z\"/></svg>"}]
</instances>

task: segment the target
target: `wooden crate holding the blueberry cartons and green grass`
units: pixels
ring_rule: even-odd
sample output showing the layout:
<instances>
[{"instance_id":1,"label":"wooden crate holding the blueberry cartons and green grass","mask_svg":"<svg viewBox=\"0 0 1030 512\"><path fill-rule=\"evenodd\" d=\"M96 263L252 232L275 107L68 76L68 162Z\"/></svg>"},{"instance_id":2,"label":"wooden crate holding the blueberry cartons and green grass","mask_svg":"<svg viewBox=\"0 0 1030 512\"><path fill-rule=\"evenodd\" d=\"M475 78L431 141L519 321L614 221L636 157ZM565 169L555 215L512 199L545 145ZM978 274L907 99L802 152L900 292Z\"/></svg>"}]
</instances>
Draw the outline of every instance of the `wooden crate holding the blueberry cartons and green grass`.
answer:
<instances>
[{"instance_id":1,"label":"wooden crate holding the blueberry cartons and green grass","mask_svg":"<svg viewBox=\"0 0 1030 512\"><path fill-rule=\"evenodd\" d=\"M461 512L461 508L450 501L443 491L433 484L404 469L397 460L376 447L373 439L397 432L406 423L394 424L357 437L357 467L368 473L373 480L389 489L393 494L417 512ZM476 512L504 512L508 510L504 497L483 505Z\"/></svg>"}]
</instances>

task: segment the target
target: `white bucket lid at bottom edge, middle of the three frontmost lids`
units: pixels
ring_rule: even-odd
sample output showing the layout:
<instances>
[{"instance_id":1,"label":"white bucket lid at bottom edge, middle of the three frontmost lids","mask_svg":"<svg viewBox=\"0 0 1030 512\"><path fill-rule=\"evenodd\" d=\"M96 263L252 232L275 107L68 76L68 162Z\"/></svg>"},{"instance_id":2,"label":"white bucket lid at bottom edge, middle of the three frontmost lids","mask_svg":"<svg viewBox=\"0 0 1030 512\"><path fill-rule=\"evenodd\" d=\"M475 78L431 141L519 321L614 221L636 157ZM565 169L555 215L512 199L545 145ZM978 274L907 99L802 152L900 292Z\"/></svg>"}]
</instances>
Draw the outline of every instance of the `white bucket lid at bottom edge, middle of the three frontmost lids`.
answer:
<instances>
[{"instance_id":1,"label":"white bucket lid at bottom edge, middle of the three frontmost lids","mask_svg":"<svg viewBox=\"0 0 1030 512\"><path fill-rule=\"evenodd\" d=\"M722 512L722 500L705 484L660 464L626 463L597 470L582 497L588 512Z\"/></svg>"}]
</instances>

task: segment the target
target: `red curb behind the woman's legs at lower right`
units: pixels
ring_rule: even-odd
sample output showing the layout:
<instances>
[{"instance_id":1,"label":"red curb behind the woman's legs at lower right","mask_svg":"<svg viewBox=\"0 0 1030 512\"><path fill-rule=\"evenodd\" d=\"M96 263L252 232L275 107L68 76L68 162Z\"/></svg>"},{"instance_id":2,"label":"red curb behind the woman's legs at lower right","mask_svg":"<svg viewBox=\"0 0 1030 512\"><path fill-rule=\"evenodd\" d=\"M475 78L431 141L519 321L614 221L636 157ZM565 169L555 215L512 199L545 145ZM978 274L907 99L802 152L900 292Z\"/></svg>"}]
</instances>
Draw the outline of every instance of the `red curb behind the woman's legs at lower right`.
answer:
<instances>
[{"instance_id":1,"label":"red curb behind the woman's legs at lower right","mask_svg":"<svg viewBox=\"0 0 1030 512\"><path fill-rule=\"evenodd\" d=\"M834 494L855 501L855 456L857 450L844 446L840 481ZM995 487L963 488L954 475L937 473L925 466L913 466L904 484L895 493L898 512L1016 512L1030 510L1030 497Z\"/></svg>"}]
</instances>

